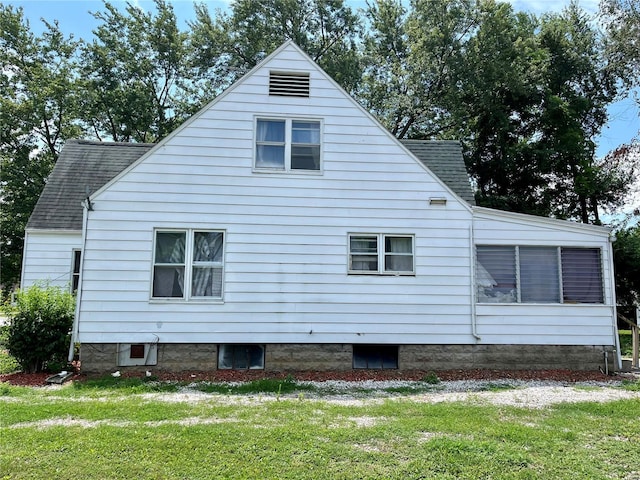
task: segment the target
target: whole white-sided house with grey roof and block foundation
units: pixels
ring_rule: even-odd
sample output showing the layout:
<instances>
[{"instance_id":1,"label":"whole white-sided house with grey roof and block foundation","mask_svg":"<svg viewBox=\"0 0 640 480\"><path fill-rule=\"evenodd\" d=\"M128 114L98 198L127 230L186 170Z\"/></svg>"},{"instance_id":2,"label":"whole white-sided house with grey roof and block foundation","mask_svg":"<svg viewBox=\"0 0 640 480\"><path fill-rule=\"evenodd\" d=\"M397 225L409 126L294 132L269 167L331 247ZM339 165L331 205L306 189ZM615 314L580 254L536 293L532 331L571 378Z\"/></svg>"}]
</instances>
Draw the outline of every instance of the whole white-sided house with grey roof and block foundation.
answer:
<instances>
[{"instance_id":1,"label":"whole white-sided house with grey roof and block foundation","mask_svg":"<svg viewBox=\"0 0 640 480\"><path fill-rule=\"evenodd\" d=\"M82 368L614 368L609 230L479 208L295 44L156 145L68 142L23 286L77 288Z\"/></svg>"}]
</instances>

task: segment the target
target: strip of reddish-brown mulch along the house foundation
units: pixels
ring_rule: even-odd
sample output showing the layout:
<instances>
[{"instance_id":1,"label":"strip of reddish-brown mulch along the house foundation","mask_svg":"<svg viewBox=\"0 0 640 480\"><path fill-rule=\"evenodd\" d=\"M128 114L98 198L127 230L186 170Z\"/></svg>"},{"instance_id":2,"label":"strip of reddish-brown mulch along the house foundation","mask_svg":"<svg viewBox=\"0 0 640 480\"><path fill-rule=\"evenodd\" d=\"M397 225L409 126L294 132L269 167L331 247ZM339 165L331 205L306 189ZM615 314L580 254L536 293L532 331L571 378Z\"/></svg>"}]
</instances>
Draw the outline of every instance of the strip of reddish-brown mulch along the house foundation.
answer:
<instances>
[{"instance_id":1,"label":"strip of reddish-brown mulch along the house foundation","mask_svg":"<svg viewBox=\"0 0 640 480\"><path fill-rule=\"evenodd\" d=\"M217 370L210 372L152 372L159 380L182 382L246 382L263 378L293 378L299 381L322 382L327 380L364 381L364 380L423 380L432 372L427 371L398 371L398 370L349 370L344 372L267 372L264 370ZM598 381L611 382L624 378L620 375L605 375L600 372L574 370L445 370L435 372L440 380L554 380L560 382ZM10 373L0 375L0 382L21 386L43 386L50 373ZM122 377L145 377L144 371L122 372ZM83 381L89 377L76 374L74 381Z\"/></svg>"}]
</instances>

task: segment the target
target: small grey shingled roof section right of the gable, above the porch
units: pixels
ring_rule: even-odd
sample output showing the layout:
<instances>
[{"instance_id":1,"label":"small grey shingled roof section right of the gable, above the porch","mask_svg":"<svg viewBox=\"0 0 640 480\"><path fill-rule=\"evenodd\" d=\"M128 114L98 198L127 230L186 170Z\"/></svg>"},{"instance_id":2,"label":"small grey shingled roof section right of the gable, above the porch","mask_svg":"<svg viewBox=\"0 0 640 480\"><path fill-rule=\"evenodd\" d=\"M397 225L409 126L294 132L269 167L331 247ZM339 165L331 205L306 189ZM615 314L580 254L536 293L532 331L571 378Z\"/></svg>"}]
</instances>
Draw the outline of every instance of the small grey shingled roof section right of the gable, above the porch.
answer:
<instances>
[{"instance_id":1,"label":"small grey shingled roof section right of the gable, above the porch","mask_svg":"<svg viewBox=\"0 0 640 480\"><path fill-rule=\"evenodd\" d=\"M462 146L455 140L401 140L402 144L469 205L475 198L462 158Z\"/></svg>"}]
</instances>

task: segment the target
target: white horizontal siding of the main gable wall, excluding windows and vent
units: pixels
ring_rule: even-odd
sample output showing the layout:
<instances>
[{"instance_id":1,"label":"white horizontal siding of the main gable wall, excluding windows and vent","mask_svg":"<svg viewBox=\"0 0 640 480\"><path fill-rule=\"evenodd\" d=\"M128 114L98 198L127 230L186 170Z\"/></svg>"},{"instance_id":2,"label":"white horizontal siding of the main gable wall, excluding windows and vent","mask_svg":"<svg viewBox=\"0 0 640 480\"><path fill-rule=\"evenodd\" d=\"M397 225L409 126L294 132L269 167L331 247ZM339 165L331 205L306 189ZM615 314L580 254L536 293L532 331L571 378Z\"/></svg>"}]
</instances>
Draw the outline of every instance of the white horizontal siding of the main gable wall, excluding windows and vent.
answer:
<instances>
[{"instance_id":1,"label":"white horizontal siding of the main gable wall, excluding windows and vent","mask_svg":"<svg viewBox=\"0 0 640 480\"><path fill-rule=\"evenodd\" d=\"M311 95L269 97L270 70L310 72ZM322 175L256 174L256 121L274 112L321 122ZM431 208L434 196L446 208ZM294 50L220 95L94 203L81 341L472 341L470 209ZM224 302L149 301L163 229L225 230ZM415 274L348 275L355 232L415 235Z\"/></svg>"}]
</instances>

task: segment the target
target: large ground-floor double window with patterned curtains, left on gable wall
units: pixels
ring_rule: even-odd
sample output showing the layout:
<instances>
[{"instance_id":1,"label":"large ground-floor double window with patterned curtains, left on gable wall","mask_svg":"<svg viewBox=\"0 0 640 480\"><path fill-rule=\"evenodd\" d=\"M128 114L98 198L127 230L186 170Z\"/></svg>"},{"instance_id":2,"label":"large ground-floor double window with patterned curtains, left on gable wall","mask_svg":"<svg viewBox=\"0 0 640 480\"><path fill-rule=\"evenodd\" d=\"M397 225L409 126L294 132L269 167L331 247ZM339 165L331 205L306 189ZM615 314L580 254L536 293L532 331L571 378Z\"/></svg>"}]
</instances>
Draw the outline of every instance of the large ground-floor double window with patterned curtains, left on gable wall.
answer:
<instances>
[{"instance_id":1,"label":"large ground-floor double window with patterned curtains, left on gable wall","mask_svg":"<svg viewBox=\"0 0 640 480\"><path fill-rule=\"evenodd\" d=\"M157 230L152 298L221 299L224 232Z\"/></svg>"}]
</instances>

